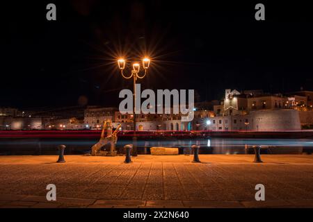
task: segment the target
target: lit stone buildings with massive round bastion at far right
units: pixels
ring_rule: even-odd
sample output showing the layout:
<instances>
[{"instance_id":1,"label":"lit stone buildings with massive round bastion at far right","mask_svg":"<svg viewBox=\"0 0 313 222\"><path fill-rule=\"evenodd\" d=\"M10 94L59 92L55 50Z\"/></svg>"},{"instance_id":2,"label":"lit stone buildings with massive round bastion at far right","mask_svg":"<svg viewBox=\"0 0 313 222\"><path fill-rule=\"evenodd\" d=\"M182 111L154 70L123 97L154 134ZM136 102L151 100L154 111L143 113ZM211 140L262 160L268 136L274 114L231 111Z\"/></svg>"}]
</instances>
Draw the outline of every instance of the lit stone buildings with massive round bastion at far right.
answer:
<instances>
[{"instance_id":1,"label":"lit stone buildings with massive round bastion at far right","mask_svg":"<svg viewBox=\"0 0 313 222\"><path fill-rule=\"evenodd\" d=\"M301 126L313 124L312 106L307 103L312 93L284 96L264 94L262 90L239 93L225 89L223 101L214 105L216 116L210 119L209 130L300 130Z\"/></svg>"}]
</instances>

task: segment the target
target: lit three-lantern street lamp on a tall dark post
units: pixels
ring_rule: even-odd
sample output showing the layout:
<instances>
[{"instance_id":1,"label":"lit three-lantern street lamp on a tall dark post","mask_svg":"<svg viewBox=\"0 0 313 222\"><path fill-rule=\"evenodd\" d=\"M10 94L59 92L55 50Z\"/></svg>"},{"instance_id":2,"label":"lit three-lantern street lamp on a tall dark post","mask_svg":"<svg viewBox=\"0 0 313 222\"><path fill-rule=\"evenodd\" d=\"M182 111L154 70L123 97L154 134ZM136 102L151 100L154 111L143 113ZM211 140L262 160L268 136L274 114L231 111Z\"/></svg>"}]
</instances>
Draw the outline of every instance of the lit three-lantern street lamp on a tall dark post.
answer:
<instances>
[{"instance_id":1,"label":"lit three-lantern street lamp on a tall dark post","mask_svg":"<svg viewBox=\"0 0 313 222\"><path fill-rule=\"evenodd\" d=\"M137 155L136 113L135 113L135 110L136 110L136 80L137 80L137 78L145 78L145 75L147 74L147 69L150 66L150 59L144 58L142 62L143 62L143 70L144 70L143 76L139 75L139 71L141 70L141 65L138 62L135 62L133 64L133 69L131 69L131 74L129 76L125 76L123 70L125 69L126 62L122 58L118 60L118 68L120 69L120 73L122 74L122 77L126 78L126 79L133 78L133 80L134 80L134 94L133 94L134 137L133 137L133 152L132 152L133 156Z\"/></svg>"}]
</instances>

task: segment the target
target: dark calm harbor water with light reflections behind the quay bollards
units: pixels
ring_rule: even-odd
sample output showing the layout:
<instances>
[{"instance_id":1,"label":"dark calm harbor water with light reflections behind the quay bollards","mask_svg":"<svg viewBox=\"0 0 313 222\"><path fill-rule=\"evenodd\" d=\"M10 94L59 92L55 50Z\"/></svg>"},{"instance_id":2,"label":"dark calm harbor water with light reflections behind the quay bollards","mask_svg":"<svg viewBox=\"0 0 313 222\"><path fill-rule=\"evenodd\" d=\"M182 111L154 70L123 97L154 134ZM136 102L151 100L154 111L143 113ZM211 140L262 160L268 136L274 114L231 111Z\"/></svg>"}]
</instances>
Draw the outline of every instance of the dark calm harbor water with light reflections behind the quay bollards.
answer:
<instances>
[{"instance_id":1,"label":"dark calm harbor water with light reflections behind the quay bollards","mask_svg":"<svg viewBox=\"0 0 313 222\"><path fill-rule=\"evenodd\" d=\"M56 147L65 144L67 154L90 152L97 139L53 139L53 138L15 138L0 140L0 155L55 155ZM120 139L116 144L118 153L123 153L123 146L132 144L131 139ZM177 147L179 153L188 153L193 144L200 145L203 154L244 154L251 153L252 146L262 146L262 153L288 154L312 153L313 138L310 139L252 139L252 138L210 138L210 139L138 139L138 153L150 154L152 146Z\"/></svg>"}]
</instances>

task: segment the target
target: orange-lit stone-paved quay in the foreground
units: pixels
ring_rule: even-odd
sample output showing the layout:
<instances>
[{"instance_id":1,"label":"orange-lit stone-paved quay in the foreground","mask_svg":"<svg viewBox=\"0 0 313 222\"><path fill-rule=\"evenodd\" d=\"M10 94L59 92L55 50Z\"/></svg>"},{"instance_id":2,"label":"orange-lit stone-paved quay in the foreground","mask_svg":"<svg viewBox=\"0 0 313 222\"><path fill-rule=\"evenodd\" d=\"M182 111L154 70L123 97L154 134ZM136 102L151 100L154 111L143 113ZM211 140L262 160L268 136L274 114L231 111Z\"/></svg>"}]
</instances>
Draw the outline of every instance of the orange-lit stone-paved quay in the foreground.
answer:
<instances>
[{"instance_id":1,"label":"orange-lit stone-paved quay in the foreground","mask_svg":"<svg viewBox=\"0 0 313 222\"><path fill-rule=\"evenodd\" d=\"M0 156L0 207L313 207L313 156ZM56 201L46 187L56 185ZM265 201L255 200L255 185Z\"/></svg>"}]
</instances>

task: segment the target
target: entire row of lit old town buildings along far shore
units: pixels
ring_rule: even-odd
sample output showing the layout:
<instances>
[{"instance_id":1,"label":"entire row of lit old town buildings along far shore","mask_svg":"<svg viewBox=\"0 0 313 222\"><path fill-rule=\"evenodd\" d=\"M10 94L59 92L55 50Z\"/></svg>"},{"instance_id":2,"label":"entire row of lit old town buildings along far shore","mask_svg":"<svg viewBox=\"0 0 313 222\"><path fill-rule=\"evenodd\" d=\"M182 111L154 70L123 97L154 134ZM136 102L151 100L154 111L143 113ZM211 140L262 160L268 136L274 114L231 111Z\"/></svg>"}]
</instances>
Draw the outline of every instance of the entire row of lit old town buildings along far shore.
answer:
<instances>
[{"instance_id":1,"label":"entire row of lit old town buildings along far shore","mask_svg":"<svg viewBox=\"0 0 313 222\"><path fill-rule=\"evenodd\" d=\"M225 89L225 97L195 103L194 118L182 121L181 114L136 114L136 130L300 130L313 128L313 92L268 94L262 90ZM102 129L104 121L122 130L134 130L134 114L102 106L0 108L0 130L83 130Z\"/></svg>"}]
</instances>

